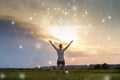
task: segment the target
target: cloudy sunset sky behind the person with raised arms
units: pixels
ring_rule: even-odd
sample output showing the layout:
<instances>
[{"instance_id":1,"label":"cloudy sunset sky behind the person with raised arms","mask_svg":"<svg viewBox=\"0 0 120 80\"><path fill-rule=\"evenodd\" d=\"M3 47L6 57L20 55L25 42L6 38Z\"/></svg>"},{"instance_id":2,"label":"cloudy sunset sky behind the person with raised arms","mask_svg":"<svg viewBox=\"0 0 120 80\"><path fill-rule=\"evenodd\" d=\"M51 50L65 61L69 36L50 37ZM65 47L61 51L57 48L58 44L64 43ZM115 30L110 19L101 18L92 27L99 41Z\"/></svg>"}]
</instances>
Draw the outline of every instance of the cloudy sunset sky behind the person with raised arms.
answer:
<instances>
[{"instance_id":1,"label":"cloudy sunset sky behind the person with raised arms","mask_svg":"<svg viewBox=\"0 0 120 80\"><path fill-rule=\"evenodd\" d=\"M0 0L0 68L120 64L119 0Z\"/></svg>"}]
</instances>

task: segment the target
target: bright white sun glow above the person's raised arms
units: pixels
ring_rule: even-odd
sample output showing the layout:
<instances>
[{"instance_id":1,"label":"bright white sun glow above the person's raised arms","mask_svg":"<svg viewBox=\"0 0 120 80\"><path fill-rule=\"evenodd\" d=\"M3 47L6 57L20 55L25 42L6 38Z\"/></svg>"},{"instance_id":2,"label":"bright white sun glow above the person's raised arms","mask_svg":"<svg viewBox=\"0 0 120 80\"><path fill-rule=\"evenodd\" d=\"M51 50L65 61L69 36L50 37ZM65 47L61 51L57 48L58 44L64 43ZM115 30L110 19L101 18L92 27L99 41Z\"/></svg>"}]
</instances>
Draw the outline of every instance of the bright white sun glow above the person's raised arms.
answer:
<instances>
[{"instance_id":1,"label":"bright white sun glow above the person's raised arms","mask_svg":"<svg viewBox=\"0 0 120 80\"><path fill-rule=\"evenodd\" d=\"M78 40L77 27L75 26L53 26L50 27L50 33L62 42Z\"/></svg>"}]
</instances>

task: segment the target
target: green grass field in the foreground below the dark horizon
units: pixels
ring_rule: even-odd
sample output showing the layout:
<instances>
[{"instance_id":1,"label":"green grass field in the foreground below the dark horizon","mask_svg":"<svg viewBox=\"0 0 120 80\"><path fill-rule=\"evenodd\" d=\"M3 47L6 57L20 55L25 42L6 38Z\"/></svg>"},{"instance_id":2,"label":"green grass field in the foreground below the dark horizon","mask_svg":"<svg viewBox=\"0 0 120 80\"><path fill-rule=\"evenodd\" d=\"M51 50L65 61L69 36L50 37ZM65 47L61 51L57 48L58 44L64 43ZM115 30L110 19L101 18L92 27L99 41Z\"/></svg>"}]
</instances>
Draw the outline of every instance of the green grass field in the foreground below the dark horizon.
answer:
<instances>
[{"instance_id":1,"label":"green grass field in the foreground below the dark horizon","mask_svg":"<svg viewBox=\"0 0 120 80\"><path fill-rule=\"evenodd\" d=\"M120 80L120 70L0 70L0 80Z\"/></svg>"}]
</instances>

